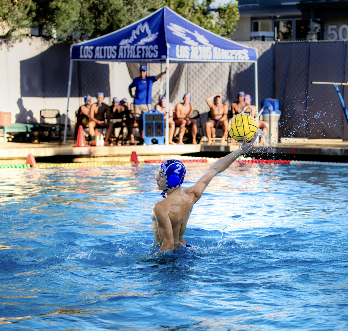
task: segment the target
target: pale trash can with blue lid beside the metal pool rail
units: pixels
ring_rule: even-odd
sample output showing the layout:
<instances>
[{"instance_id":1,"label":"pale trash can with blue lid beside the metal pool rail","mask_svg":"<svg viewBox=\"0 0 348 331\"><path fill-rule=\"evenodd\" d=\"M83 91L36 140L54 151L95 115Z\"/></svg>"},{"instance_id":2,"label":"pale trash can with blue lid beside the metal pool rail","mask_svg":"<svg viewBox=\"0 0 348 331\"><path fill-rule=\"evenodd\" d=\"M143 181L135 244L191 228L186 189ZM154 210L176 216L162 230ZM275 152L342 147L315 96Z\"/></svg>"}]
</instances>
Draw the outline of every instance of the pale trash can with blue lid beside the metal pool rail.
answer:
<instances>
[{"instance_id":1,"label":"pale trash can with blue lid beside the metal pool rail","mask_svg":"<svg viewBox=\"0 0 348 331\"><path fill-rule=\"evenodd\" d=\"M279 119L282 112L279 110L279 100L266 98L261 101L262 107L267 106L271 109L271 115L268 108L264 108L260 120L270 124L270 130L268 136L272 144L279 142Z\"/></svg>"}]
</instances>

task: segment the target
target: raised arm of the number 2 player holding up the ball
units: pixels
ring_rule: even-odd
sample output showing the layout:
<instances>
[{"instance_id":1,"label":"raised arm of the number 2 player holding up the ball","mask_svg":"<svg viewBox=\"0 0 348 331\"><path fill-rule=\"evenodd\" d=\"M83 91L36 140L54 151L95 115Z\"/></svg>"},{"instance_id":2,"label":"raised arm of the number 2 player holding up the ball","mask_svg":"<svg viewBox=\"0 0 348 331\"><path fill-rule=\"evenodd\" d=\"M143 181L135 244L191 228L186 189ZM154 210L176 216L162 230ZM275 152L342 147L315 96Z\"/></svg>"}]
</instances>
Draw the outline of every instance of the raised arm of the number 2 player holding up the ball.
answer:
<instances>
[{"instance_id":1,"label":"raised arm of the number 2 player holding up the ball","mask_svg":"<svg viewBox=\"0 0 348 331\"><path fill-rule=\"evenodd\" d=\"M251 147L257 137L257 134L255 134L253 140L248 144L245 140L245 137L243 137L243 143L242 145L237 149L237 151L234 151L226 156L224 156L222 159L217 160L215 163L213 163L207 171L204 173L204 175L199 178L195 185L185 188L186 193L194 193L196 197L197 202L200 197L202 196L205 188L208 186L210 181L217 175L220 174L220 172L226 170L232 162L234 162L238 156L240 156L242 153L244 153L249 147Z\"/></svg>"}]
</instances>

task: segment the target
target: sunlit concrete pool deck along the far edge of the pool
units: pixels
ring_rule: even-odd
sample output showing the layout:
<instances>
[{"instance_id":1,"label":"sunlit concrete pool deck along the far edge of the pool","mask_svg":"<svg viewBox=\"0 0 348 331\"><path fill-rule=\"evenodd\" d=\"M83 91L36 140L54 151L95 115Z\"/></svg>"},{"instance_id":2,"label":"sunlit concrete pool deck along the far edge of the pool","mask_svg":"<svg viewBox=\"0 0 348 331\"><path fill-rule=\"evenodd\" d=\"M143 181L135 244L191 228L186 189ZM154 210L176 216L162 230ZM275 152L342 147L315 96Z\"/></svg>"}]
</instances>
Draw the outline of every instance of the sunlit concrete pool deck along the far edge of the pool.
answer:
<instances>
[{"instance_id":1,"label":"sunlit concrete pool deck along the far edge of the pool","mask_svg":"<svg viewBox=\"0 0 348 331\"><path fill-rule=\"evenodd\" d=\"M272 146L258 146L250 149L249 154L256 158L265 158L273 155L273 159L298 159L303 156L320 156L323 161L330 157L341 157L348 162L348 142L339 139L300 139L282 138L282 143ZM38 162L47 162L48 159L58 158L70 162L91 161L129 161L130 154L135 151L139 160L156 160L166 155L194 155L199 153L209 157L220 157L223 153L236 150L235 146L215 145L150 145L150 146L112 146L112 147L73 147L72 145L59 146L53 144L24 144L0 143L0 164L23 164L29 153L32 153ZM266 156L265 156L266 155ZM322 156L325 156L323 158ZM345 161L345 158L347 160Z\"/></svg>"}]
</instances>

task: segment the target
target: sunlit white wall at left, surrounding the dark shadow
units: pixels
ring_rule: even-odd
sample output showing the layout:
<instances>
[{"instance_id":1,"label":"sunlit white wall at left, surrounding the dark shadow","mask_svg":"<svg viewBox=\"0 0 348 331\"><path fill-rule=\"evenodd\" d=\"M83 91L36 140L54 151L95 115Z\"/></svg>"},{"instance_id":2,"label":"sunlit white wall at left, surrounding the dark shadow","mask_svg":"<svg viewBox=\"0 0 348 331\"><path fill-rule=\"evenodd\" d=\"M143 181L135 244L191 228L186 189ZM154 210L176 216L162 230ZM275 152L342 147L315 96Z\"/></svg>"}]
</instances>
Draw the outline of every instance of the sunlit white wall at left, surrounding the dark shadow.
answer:
<instances>
[{"instance_id":1,"label":"sunlit white wall at left, surrounding the dark shadow","mask_svg":"<svg viewBox=\"0 0 348 331\"><path fill-rule=\"evenodd\" d=\"M53 43L40 37L28 37L22 43L16 43L10 47L3 44L0 49L0 111L11 111L11 122L16 122L20 109L22 109L21 122L40 122L41 109L59 109L61 114L66 113L67 98L38 98L21 96L21 72L20 61L30 59L46 51ZM105 62L102 62L105 64ZM76 66L76 63L74 63ZM109 62L110 71L110 92L111 98L118 97L130 100L128 85L132 82L129 76L126 63ZM68 91L68 81L66 82ZM95 98L92 99L96 101ZM109 97L105 98L105 103L110 104ZM70 98L69 119L75 121L75 111L83 103L83 98ZM23 108L27 112L23 112ZM9 110L10 109L10 110ZM32 114L31 114L32 112ZM18 121L17 121L18 122Z\"/></svg>"}]
</instances>

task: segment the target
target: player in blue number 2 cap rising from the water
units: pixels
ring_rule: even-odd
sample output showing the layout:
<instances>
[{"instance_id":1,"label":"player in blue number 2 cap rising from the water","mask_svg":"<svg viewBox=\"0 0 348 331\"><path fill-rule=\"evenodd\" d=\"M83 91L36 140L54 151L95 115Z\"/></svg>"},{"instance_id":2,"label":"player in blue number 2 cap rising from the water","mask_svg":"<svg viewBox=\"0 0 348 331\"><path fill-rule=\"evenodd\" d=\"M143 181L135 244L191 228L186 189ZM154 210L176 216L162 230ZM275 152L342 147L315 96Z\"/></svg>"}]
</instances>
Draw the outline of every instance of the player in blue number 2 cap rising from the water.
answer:
<instances>
[{"instance_id":1,"label":"player in blue number 2 cap rising from the water","mask_svg":"<svg viewBox=\"0 0 348 331\"><path fill-rule=\"evenodd\" d=\"M233 161L251 147L257 137L248 144L243 137L243 143L237 149L213 163L195 185L182 189L186 170L179 160L163 162L156 178L158 189L163 191L163 199L153 206L151 214L153 236L156 243L161 243L159 252L166 249L173 251L175 244L186 245L183 235L189 220L193 205L200 199L209 182L220 172L227 169Z\"/></svg>"}]
</instances>

